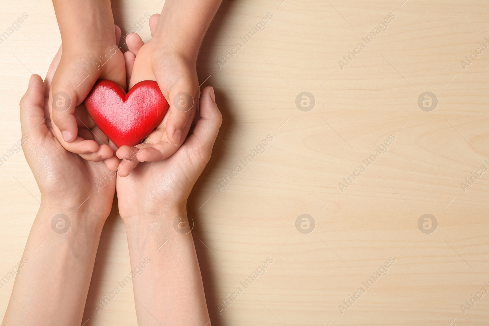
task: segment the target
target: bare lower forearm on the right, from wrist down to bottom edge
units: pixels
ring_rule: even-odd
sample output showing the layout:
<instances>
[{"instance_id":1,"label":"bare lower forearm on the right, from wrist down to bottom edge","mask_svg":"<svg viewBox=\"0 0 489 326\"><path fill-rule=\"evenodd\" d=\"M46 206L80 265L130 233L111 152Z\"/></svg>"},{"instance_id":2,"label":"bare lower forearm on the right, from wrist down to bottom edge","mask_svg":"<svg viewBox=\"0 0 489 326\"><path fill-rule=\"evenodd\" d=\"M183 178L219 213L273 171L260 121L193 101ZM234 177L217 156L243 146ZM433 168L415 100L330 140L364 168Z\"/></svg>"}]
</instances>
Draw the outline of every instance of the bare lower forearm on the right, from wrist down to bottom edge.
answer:
<instances>
[{"instance_id":1,"label":"bare lower forearm on the right, from wrist down to bottom edge","mask_svg":"<svg viewBox=\"0 0 489 326\"><path fill-rule=\"evenodd\" d=\"M125 220L139 326L210 326L192 234L188 224L174 228L180 214L185 210Z\"/></svg>"}]
</instances>

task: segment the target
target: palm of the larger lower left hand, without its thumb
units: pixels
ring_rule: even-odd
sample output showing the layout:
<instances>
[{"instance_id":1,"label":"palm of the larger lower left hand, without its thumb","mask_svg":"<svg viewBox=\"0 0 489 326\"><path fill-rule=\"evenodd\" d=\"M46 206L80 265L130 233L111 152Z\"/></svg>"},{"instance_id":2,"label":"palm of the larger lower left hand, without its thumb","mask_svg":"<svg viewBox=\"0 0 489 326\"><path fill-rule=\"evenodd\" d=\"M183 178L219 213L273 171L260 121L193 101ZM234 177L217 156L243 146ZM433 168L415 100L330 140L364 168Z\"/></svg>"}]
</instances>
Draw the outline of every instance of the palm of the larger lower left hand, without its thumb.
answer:
<instances>
[{"instance_id":1,"label":"palm of the larger lower left hand, without its thumb","mask_svg":"<svg viewBox=\"0 0 489 326\"><path fill-rule=\"evenodd\" d=\"M111 173L104 162L87 161L63 148L54 136L47 94L44 114L40 109L38 120L41 123L36 127L36 136L25 141L24 153L43 199L65 203L74 210L83 204L82 209L90 209L93 216L108 216L115 192L115 173ZM39 157L44 164L33 163Z\"/></svg>"}]
</instances>

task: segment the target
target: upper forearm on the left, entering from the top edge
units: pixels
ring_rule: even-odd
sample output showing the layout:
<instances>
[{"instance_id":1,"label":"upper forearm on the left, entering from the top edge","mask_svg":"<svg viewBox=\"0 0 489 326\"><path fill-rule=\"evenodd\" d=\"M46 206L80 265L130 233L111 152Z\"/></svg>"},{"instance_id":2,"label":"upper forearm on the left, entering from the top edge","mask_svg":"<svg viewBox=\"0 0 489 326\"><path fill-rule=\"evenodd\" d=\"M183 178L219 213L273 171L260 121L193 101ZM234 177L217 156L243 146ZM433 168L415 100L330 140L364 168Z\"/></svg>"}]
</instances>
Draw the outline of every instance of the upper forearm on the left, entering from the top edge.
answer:
<instances>
[{"instance_id":1,"label":"upper forearm on the left, entering from the top edge","mask_svg":"<svg viewBox=\"0 0 489 326\"><path fill-rule=\"evenodd\" d=\"M113 46L110 0L53 0L53 5L65 46Z\"/></svg>"}]
</instances>

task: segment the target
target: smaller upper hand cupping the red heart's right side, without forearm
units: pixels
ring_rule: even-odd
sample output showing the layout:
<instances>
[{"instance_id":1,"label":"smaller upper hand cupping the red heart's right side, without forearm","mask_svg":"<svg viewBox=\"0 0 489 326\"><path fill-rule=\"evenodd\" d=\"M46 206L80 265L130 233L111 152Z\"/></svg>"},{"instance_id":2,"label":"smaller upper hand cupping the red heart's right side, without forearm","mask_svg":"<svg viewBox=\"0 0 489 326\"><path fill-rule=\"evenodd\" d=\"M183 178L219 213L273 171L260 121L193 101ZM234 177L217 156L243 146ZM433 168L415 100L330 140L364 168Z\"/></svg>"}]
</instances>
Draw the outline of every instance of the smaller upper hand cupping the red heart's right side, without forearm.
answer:
<instances>
[{"instance_id":1,"label":"smaller upper hand cupping the red heart's right side, without forearm","mask_svg":"<svg viewBox=\"0 0 489 326\"><path fill-rule=\"evenodd\" d=\"M155 14L150 18L152 36L159 16ZM135 147L122 146L117 150L116 155L123 159L119 167L121 176L129 174L138 162L162 160L178 150L198 115L200 96L195 58L189 58L155 38L145 44L135 33L128 35L127 44L130 51L124 53L124 57L126 62L132 62L126 63L129 88L143 80L155 80L170 107L163 122L144 143Z\"/></svg>"}]
</instances>

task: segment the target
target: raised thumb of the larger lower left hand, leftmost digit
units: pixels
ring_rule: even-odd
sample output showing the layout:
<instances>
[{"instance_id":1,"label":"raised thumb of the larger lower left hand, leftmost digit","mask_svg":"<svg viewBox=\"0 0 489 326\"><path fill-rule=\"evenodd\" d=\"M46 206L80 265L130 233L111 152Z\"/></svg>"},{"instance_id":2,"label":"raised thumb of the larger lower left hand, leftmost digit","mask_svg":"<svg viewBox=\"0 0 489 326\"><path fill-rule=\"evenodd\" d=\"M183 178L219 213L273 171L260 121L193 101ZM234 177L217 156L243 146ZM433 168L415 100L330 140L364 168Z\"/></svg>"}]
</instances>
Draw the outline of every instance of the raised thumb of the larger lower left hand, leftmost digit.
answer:
<instances>
[{"instance_id":1,"label":"raised thumb of the larger lower left hand, leftmost digit","mask_svg":"<svg viewBox=\"0 0 489 326\"><path fill-rule=\"evenodd\" d=\"M44 117L44 84L39 75L32 75L29 86L20 102L21 129L28 138L45 136L47 129Z\"/></svg>"}]
</instances>

